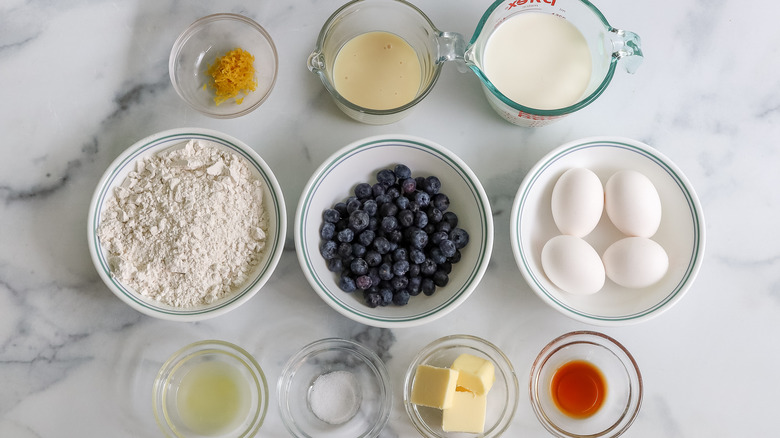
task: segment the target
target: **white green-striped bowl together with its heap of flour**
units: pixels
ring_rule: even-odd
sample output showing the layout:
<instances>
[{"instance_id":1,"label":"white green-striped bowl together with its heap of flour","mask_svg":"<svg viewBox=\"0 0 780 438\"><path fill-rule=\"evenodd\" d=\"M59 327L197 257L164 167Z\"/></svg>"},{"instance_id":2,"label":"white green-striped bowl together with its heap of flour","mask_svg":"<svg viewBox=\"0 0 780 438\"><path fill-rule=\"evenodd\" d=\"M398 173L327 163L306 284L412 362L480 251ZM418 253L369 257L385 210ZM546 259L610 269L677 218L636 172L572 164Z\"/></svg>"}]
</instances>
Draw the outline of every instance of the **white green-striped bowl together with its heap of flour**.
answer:
<instances>
[{"instance_id":1,"label":"white green-striped bowl together with its heap of flour","mask_svg":"<svg viewBox=\"0 0 780 438\"><path fill-rule=\"evenodd\" d=\"M129 147L98 183L88 221L108 288L146 315L177 321L249 300L273 273L287 232L268 165L240 140L200 128Z\"/></svg>"}]
</instances>

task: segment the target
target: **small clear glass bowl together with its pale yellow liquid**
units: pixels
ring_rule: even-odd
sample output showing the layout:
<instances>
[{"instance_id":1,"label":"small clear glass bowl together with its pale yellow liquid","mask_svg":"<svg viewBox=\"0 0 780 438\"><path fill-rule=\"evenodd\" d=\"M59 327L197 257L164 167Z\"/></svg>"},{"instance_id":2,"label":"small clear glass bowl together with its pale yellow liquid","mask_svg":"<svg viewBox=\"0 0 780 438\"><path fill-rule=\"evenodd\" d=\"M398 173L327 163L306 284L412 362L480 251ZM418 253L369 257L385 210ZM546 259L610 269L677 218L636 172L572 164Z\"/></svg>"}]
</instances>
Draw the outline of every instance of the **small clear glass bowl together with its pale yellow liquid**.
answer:
<instances>
[{"instance_id":1,"label":"small clear glass bowl together with its pale yellow liquid","mask_svg":"<svg viewBox=\"0 0 780 438\"><path fill-rule=\"evenodd\" d=\"M235 409L208 423L196 418L204 395L229 394ZM199 396L193 401L188 395ZM160 368L154 381L154 416L169 437L252 437L268 410L268 384L255 359L229 342L207 340L187 345ZM224 420L224 421L223 421ZM219 425L220 427L216 427Z\"/></svg>"}]
</instances>

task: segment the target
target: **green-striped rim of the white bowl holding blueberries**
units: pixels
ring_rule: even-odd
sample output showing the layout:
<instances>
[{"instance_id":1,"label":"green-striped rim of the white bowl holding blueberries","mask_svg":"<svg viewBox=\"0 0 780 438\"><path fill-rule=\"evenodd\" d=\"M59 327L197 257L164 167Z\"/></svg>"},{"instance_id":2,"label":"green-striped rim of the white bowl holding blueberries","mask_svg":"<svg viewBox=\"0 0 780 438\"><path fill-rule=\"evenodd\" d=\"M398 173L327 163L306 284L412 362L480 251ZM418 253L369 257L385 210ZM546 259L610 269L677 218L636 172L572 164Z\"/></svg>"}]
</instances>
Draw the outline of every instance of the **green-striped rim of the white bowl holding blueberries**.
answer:
<instances>
[{"instance_id":1,"label":"green-striped rim of the white bowl holding blueberries","mask_svg":"<svg viewBox=\"0 0 780 438\"><path fill-rule=\"evenodd\" d=\"M297 224L297 226L299 227L300 235L301 236L305 236L306 235L305 230L306 230L306 225L308 224L308 222L307 222L308 214L307 213L308 213L308 210L309 210L309 205L311 204L312 197L317 192L317 188L322 184L322 181L325 179L325 177L328 174L330 174L330 172L332 172L333 169L336 166L338 166L340 163L342 163L346 159L350 158L354 154L356 154L356 153L358 153L358 152L360 152L362 150L365 150L365 149L372 149L372 148L382 147L382 146L386 146L386 145L401 146L401 147L408 147L408 148L422 150L422 151L424 151L424 152L426 152L426 153L428 153L430 155L433 155L436 158L440 159L442 162L447 164L449 167L451 167L452 169L454 169L458 173L458 175L466 182L466 185L469 187L469 190L470 190L472 196L474 196L474 199L476 200L477 204L480 206L480 209L479 209L479 211L480 211L479 220L480 220L480 231L481 231L481 236L480 236L481 244L480 244L480 247L479 247L479 260L484 260L485 257L489 256L489 254L487 254L488 240L489 240L489 236L487 234L490 232L490 230L488 229L489 228L489 226L488 226L489 219L487 217L487 212L489 211L489 209L486 208L485 204L482 202L482 199L479 196L479 190L478 190L479 183L472 180L472 178L469 176L469 172L467 170L465 170L464 167L460 163L458 163L452 157L448 157L446 154L442 153L442 151L440 150L441 149L440 146L433 146L431 144L426 144L424 142L411 140L411 139L381 138L381 139L369 141L369 142L366 142L366 143L361 143L361 144L355 145L352 148L349 148L347 150L342 151L342 153L340 155L335 157L335 159L331 160L331 162L328 163L327 167L325 167L321 172L319 172L319 174L317 175L316 179L311 184L310 189L304 195L305 202L303 203L303 205L305 207L301 210L301 219L302 220L300 221L299 224ZM433 314L437 313L441 309L444 309L444 308L448 307L453 302L457 301L469 289L471 289L473 287L473 285L474 285L474 282L479 277L476 274L479 272L480 267L483 265L483 263L478 263L474 267L474 269L469 273L468 280L463 285L463 287L461 287L461 289L457 293L455 293L450 299L448 299L444 303L440 304L439 306L437 306L437 307L435 307L433 309L430 309L430 310L428 310L426 312L423 312L423 313L420 313L420 314L416 314L416 315L412 315L412 316L399 316L399 317L388 317L388 316L386 316L386 317L380 317L380 316L375 316L375 315L371 315L371 314L367 314L367 313L361 312L358 309L347 305L344 301L342 301L340 298L338 298L335 294L330 293L329 289L325 286L323 280L320 279L320 277L317 275L316 270L312 267L312 264L311 264L311 255L312 254L319 255L319 250L312 252L310 250L310 248L308 247L308 242L307 242L307 240L305 238L301 238L300 239L300 244L301 244L301 247L303 249L303 254L304 254L303 260L305 260L306 270L309 272L310 278L317 284L317 286L320 288L320 290L323 293L325 293L328 297L331 298L331 300L332 300L331 302L335 303L341 309L343 309L343 310L345 310L345 311L347 311L347 312L349 312L351 314L357 315L357 316L359 316L361 318L365 318L365 319L371 320L371 321L380 321L380 322L409 322L409 321L416 321L416 320L420 320L420 319L424 319L426 317L429 317L430 315L433 315ZM339 290L339 292L340 292L340 290Z\"/></svg>"}]
</instances>

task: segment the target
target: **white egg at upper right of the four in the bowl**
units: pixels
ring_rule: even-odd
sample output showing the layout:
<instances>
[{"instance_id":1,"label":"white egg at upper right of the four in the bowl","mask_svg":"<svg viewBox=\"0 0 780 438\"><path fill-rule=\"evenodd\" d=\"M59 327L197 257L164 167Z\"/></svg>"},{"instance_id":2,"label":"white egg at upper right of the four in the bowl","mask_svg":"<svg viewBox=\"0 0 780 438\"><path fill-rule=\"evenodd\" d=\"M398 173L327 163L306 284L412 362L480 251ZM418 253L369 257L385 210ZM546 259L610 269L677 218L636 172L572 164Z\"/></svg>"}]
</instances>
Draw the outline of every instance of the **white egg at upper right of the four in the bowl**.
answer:
<instances>
[{"instance_id":1,"label":"white egg at upper right of the four in the bowl","mask_svg":"<svg viewBox=\"0 0 780 438\"><path fill-rule=\"evenodd\" d=\"M604 190L609 220L627 236L652 237L661 224L661 198L653 182L634 170L621 170Z\"/></svg>"}]
</instances>

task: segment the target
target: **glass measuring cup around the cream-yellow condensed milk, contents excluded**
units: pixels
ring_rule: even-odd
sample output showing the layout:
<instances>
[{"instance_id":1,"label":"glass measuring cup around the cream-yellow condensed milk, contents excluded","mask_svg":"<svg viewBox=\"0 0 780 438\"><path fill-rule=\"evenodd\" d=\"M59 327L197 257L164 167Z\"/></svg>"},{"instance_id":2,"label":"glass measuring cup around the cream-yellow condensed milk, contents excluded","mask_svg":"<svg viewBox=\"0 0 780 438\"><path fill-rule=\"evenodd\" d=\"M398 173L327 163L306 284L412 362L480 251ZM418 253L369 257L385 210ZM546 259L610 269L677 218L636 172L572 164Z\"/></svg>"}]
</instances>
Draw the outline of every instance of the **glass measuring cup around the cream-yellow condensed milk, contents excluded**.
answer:
<instances>
[{"instance_id":1,"label":"glass measuring cup around the cream-yellow condensed milk, contents excluded","mask_svg":"<svg viewBox=\"0 0 780 438\"><path fill-rule=\"evenodd\" d=\"M422 69L414 98L397 108L371 109L347 100L334 86L333 70L339 50L352 38L368 32L388 32L404 39L417 54ZM307 66L322 80L336 105L353 119L368 124L396 122L410 112L433 88L441 73L440 32L417 7L403 0L354 0L334 12L317 38ZM465 47L464 47L465 49Z\"/></svg>"}]
</instances>

